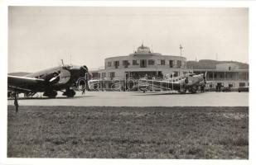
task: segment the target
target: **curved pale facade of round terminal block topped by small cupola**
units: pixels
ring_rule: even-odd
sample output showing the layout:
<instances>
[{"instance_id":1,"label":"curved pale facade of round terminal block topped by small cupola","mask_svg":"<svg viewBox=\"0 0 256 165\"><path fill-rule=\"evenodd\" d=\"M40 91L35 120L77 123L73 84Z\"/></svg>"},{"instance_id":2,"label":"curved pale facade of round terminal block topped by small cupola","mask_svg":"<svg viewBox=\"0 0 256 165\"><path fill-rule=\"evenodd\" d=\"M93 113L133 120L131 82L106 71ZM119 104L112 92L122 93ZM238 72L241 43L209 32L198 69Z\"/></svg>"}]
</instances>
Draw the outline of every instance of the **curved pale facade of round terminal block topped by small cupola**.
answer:
<instances>
[{"instance_id":1,"label":"curved pale facade of round terminal block topped by small cupola","mask_svg":"<svg viewBox=\"0 0 256 165\"><path fill-rule=\"evenodd\" d=\"M153 53L149 47L141 45L137 51L127 56L104 59L104 69L93 73L93 78L163 78L166 74L178 76L188 73L186 58Z\"/></svg>"}]
</instances>

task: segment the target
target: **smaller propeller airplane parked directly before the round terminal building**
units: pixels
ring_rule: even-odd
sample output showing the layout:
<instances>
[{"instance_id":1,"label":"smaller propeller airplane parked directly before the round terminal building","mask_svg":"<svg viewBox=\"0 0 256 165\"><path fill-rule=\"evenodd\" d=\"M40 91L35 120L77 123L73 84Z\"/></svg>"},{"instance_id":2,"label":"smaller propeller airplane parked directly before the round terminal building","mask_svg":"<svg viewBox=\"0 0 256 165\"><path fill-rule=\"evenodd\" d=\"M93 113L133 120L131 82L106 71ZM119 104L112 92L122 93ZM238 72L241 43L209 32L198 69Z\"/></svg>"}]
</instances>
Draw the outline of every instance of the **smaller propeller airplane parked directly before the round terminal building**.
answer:
<instances>
[{"instance_id":1,"label":"smaller propeller airplane parked directly before the round terminal building","mask_svg":"<svg viewBox=\"0 0 256 165\"><path fill-rule=\"evenodd\" d=\"M200 92L205 92L206 73L195 74L187 73L178 77L165 78L163 80L143 78L138 84L139 89L143 92L148 87L159 87L162 89L177 91L179 93L196 93L200 87Z\"/></svg>"}]
</instances>

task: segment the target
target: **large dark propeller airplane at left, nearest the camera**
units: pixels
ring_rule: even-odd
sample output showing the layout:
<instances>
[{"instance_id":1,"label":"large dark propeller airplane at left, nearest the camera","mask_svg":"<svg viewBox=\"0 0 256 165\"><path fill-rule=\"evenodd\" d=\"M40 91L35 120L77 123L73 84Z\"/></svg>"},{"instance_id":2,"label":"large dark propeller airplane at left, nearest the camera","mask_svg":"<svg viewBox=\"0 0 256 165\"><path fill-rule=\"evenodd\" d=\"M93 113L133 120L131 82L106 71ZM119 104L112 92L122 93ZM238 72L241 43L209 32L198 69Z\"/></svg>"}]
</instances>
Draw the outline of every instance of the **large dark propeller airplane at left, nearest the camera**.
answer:
<instances>
[{"instance_id":1,"label":"large dark propeller airplane at left, nearest the camera","mask_svg":"<svg viewBox=\"0 0 256 165\"><path fill-rule=\"evenodd\" d=\"M24 93L32 97L36 92L44 92L43 96L54 98L57 91L63 92L63 96L74 97L75 90L71 87L79 87L85 90L88 82L88 68L83 66L65 65L48 68L36 73L27 73L24 76L8 74L8 97L12 93ZM65 91L63 91L65 89Z\"/></svg>"}]
</instances>

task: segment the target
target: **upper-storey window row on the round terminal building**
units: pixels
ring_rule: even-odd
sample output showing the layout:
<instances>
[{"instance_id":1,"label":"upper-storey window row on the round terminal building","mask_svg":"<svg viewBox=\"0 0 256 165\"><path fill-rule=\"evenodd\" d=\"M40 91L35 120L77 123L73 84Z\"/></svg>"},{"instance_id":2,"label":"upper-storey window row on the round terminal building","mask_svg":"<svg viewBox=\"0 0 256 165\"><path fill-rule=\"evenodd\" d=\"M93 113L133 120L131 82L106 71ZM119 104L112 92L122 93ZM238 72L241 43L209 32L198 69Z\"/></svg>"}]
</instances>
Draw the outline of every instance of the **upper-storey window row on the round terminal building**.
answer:
<instances>
[{"instance_id":1,"label":"upper-storey window row on the round terminal building","mask_svg":"<svg viewBox=\"0 0 256 165\"><path fill-rule=\"evenodd\" d=\"M112 64L114 65L114 68L119 67L119 61L109 61L107 63L108 67L112 67ZM169 64L170 68L173 68L175 66L175 60L166 60L165 59L157 59L157 65L166 65ZM128 68L128 65L130 65L128 60L123 60L123 67ZM155 65L155 59L133 59L133 66L139 65L140 68L147 68L147 65ZM176 67L181 68L181 60L176 60Z\"/></svg>"}]
</instances>

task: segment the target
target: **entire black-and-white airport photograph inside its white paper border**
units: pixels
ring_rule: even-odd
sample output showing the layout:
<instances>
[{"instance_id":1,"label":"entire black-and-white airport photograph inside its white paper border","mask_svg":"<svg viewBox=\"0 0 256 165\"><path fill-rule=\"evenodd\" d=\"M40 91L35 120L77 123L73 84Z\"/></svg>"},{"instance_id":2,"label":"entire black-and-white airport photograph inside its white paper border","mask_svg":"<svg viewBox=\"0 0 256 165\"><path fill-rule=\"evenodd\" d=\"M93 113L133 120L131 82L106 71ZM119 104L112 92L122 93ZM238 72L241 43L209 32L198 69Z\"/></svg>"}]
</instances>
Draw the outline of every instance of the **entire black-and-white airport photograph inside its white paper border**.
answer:
<instances>
[{"instance_id":1,"label":"entire black-and-white airport photograph inside its white paper border","mask_svg":"<svg viewBox=\"0 0 256 165\"><path fill-rule=\"evenodd\" d=\"M248 7L9 6L7 158L249 159Z\"/></svg>"}]
</instances>

